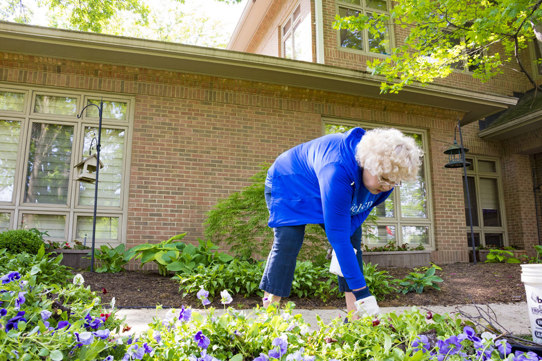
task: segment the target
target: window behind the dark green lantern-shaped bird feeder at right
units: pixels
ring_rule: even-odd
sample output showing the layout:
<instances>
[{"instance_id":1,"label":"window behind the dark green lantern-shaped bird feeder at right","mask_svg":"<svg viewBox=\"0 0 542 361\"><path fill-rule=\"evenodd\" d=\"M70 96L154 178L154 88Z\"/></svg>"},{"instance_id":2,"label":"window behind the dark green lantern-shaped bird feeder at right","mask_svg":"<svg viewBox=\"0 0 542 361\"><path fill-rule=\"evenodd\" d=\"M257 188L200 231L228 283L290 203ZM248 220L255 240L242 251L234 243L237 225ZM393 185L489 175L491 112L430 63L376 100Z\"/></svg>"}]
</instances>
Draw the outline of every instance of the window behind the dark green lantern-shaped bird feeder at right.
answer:
<instances>
[{"instance_id":1,"label":"window behind the dark green lantern-shaped bird feeder at right","mask_svg":"<svg viewBox=\"0 0 542 361\"><path fill-rule=\"evenodd\" d=\"M501 207L502 192L499 163L496 159L478 156L471 156L466 160L471 164L467 168L467 183L473 219L474 245L505 246L506 232ZM472 247L467 191L464 187L463 195L467 239L469 247Z\"/></svg>"}]
</instances>

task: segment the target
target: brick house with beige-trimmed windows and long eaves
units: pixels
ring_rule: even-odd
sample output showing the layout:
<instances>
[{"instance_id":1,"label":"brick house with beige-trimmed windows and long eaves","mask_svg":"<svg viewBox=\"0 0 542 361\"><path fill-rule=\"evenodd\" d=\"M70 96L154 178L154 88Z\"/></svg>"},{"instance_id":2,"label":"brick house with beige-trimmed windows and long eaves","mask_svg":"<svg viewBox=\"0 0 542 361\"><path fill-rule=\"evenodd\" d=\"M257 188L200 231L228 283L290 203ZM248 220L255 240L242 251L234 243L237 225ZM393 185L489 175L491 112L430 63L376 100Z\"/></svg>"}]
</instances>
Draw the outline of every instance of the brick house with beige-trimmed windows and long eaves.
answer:
<instances>
[{"instance_id":1,"label":"brick house with beige-trimmed windows and long eaves","mask_svg":"<svg viewBox=\"0 0 542 361\"><path fill-rule=\"evenodd\" d=\"M195 240L204 213L248 185L261 163L326 132L391 126L416 138L424 165L377 208L375 235L421 243L435 262L466 262L462 170L444 168L442 142L461 119L475 244L531 251L542 215L542 191L533 191L542 117L513 111L529 99L527 78L509 67L480 83L458 69L379 94L382 79L364 64L382 55L331 26L337 12L365 10L352 3L247 2L228 50L0 22L0 229L24 222L58 241L92 233L94 185L71 169L98 127L94 107L83 107L103 100L98 245L182 232ZM395 44L404 34L384 36ZM535 45L521 54L529 64Z\"/></svg>"}]
</instances>

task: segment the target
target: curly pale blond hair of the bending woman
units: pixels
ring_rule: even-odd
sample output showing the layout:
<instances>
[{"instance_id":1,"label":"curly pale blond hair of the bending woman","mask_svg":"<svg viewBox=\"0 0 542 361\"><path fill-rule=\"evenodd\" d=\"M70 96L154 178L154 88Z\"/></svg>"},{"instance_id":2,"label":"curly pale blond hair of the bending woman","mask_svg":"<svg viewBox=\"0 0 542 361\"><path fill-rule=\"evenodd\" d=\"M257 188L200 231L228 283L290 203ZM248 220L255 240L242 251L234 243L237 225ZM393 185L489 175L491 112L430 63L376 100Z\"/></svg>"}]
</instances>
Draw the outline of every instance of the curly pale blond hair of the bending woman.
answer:
<instances>
[{"instance_id":1,"label":"curly pale blond hair of the bending woman","mask_svg":"<svg viewBox=\"0 0 542 361\"><path fill-rule=\"evenodd\" d=\"M395 128L368 130L356 147L360 167L395 183L415 180L422 156L414 139Z\"/></svg>"}]
</instances>

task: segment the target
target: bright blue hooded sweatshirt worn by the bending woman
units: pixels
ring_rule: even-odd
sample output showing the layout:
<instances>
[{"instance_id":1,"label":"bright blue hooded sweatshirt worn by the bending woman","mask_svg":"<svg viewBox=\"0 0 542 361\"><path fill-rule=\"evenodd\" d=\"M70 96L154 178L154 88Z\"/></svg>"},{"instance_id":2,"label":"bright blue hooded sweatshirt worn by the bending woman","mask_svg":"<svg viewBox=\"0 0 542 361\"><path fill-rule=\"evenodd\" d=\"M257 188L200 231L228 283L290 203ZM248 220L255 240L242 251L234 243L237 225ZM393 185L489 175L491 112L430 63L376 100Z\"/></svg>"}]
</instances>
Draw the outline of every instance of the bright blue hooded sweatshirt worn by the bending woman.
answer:
<instances>
[{"instance_id":1,"label":"bright blue hooded sweatshirt worn by the bending woman","mask_svg":"<svg viewBox=\"0 0 542 361\"><path fill-rule=\"evenodd\" d=\"M266 179L271 187L269 227L323 223L352 289L366 283L350 236L392 191L371 194L363 185L355 152L364 134L353 128L295 146L276 158Z\"/></svg>"}]
</instances>

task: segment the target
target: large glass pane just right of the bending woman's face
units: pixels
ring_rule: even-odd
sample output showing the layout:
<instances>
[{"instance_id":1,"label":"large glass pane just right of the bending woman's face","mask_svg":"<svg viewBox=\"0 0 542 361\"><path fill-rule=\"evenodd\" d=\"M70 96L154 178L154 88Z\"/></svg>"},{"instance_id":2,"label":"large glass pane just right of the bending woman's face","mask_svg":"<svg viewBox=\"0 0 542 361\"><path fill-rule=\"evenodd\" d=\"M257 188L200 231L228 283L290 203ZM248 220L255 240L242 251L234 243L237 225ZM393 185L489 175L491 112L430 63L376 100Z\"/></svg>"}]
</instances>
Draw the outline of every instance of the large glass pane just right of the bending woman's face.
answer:
<instances>
[{"instance_id":1,"label":"large glass pane just right of the bending woman's face","mask_svg":"<svg viewBox=\"0 0 542 361\"><path fill-rule=\"evenodd\" d=\"M427 192L423 163L415 181L405 181L399 188L401 216L427 218Z\"/></svg>"}]
</instances>

